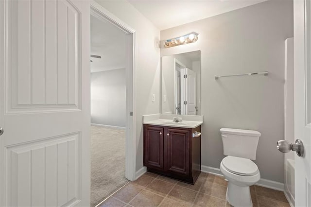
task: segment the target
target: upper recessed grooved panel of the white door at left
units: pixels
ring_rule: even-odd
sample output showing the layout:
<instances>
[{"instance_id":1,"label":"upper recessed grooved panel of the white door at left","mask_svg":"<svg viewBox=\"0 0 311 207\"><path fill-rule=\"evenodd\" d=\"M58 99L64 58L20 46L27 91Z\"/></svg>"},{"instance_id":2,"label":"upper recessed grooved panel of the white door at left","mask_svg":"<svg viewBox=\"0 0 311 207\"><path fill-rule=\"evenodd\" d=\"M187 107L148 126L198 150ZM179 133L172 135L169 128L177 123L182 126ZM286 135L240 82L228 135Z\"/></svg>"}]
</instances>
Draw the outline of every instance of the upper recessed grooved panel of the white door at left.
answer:
<instances>
[{"instance_id":1,"label":"upper recessed grooved panel of the white door at left","mask_svg":"<svg viewBox=\"0 0 311 207\"><path fill-rule=\"evenodd\" d=\"M81 109L80 12L67 0L8 6L8 113Z\"/></svg>"}]
</instances>

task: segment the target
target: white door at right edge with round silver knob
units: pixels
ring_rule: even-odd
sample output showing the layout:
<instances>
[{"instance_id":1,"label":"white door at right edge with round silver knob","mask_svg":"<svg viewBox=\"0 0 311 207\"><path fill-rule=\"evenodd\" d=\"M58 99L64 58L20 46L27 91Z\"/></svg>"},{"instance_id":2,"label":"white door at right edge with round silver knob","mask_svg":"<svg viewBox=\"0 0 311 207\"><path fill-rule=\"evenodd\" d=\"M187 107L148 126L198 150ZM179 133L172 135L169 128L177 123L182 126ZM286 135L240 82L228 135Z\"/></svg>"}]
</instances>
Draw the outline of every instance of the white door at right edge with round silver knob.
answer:
<instances>
[{"instance_id":1,"label":"white door at right edge with round silver knob","mask_svg":"<svg viewBox=\"0 0 311 207\"><path fill-rule=\"evenodd\" d=\"M304 156L295 155L295 206L311 207L311 2L294 0L294 134Z\"/></svg>"}]
</instances>

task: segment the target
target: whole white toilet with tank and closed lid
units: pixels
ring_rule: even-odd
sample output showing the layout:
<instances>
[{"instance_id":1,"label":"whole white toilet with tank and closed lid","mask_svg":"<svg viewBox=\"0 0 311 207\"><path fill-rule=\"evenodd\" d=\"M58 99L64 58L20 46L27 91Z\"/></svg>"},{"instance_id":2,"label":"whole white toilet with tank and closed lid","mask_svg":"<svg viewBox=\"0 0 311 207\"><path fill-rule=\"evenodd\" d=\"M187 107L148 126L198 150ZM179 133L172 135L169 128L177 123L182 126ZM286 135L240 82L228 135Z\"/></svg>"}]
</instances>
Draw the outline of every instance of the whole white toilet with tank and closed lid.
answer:
<instances>
[{"instance_id":1,"label":"whole white toilet with tank and closed lid","mask_svg":"<svg viewBox=\"0 0 311 207\"><path fill-rule=\"evenodd\" d=\"M252 207L249 187L257 183L260 173L256 159L258 131L221 128L224 155L220 171L228 180L227 201L234 207ZM251 160L252 159L252 160Z\"/></svg>"}]
</instances>

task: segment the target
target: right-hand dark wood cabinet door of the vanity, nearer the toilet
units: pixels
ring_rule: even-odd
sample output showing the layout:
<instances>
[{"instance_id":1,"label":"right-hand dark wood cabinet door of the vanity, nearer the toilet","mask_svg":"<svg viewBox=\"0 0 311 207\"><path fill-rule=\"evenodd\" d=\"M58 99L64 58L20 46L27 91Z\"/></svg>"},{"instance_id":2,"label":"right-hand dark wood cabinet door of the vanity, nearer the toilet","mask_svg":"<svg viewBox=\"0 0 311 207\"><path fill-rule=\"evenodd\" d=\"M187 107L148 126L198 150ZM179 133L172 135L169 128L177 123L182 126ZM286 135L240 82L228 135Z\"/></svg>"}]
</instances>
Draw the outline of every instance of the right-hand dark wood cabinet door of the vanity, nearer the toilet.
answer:
<instances>
[{"instance_id":1,"label":"right-hand dark wood cabinet door of the vanity, nearer the toilet","mask_svg":"<svg viewBox=\"0 0 311 207\"><path fill-rule=\"evenodd\" d=\"M167 171L190 173L190 130L167 128Z\"/></svg>"}]
</instances>

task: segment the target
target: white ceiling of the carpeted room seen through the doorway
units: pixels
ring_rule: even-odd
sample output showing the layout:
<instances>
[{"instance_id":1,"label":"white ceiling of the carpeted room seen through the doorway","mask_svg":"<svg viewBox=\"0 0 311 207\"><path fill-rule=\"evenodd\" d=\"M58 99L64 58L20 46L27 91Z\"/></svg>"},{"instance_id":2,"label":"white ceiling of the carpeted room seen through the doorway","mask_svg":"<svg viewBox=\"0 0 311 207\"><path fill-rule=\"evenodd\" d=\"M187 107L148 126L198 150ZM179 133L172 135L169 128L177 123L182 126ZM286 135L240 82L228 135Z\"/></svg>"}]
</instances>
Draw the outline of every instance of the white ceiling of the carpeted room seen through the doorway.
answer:
<instances>
[{"instance_id":1,"label":"white ceiling of the carpeted room seen through the doorway","mask_svg":"<svg viewBox=\"0 0 311 207\"><path fill-rule=\"evenodd\" d=\"M126 66L126 34L110 22L91 16L91 72L123 69Z\"/></svg>"}]
</instances>

